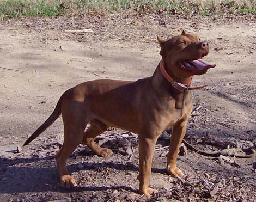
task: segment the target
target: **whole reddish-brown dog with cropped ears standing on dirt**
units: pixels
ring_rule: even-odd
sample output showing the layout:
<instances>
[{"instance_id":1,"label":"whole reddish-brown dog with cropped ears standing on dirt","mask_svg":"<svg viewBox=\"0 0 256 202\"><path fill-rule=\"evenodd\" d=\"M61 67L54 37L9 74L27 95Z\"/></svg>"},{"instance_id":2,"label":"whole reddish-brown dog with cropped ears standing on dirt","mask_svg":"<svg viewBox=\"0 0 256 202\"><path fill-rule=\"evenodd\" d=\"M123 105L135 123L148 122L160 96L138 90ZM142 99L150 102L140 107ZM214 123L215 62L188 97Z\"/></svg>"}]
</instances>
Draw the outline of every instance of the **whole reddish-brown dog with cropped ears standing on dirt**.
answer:
<instances>
[{"instance_id":1,"label":"whole reddish-brown dog with cropped ears standing on dirt","mask_svg":"<svg viewBox=\"0 0 256 202\"><path fill-rule=\"evenodd\" d=\"M173 177L183 175L176 166L176 157L192 111L190 90L205 87L190 87L192 76L202 75L215 65L202 60L209 46L196 35L182 32L167 41L159 37L157 40L162 60L153 76L136 82L88 81L67 90L50 117L25 142L24 145L29 144L62 114L64 143L56 155L62 187L76 185L66 161L78 144L86 144L98 156L112 153L94 142L109 127L139 134L139 193L149 196L155 191L149 188L153 152L157 138L170 127L167 173Z\"/></svg>"}]
</instances>

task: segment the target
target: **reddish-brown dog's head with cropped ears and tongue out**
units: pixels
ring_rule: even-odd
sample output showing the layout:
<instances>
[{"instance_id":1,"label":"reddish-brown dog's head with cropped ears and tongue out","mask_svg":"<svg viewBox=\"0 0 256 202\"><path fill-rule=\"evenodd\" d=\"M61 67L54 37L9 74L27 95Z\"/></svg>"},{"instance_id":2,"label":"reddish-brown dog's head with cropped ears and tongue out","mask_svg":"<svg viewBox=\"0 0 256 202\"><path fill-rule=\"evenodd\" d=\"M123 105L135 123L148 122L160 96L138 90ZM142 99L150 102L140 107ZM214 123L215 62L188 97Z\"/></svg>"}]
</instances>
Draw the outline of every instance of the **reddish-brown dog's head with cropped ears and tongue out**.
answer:
<instances>
[{"instance_id":1,"label":"reddish-brown dog's head with cropped ears and tongue out","mask_svg":"<svg viewBox=\"0 0 256 202\"><path fill-rule=\"evenodd\" d=\"M157 36L161 46L160 54L163 57L166 68L174 75L192 76L202 75L215 64L208 64L202 58L209 53L208 41L201 41L197 35L181 35L164 41Z\"/></svg>"}]
</instances>

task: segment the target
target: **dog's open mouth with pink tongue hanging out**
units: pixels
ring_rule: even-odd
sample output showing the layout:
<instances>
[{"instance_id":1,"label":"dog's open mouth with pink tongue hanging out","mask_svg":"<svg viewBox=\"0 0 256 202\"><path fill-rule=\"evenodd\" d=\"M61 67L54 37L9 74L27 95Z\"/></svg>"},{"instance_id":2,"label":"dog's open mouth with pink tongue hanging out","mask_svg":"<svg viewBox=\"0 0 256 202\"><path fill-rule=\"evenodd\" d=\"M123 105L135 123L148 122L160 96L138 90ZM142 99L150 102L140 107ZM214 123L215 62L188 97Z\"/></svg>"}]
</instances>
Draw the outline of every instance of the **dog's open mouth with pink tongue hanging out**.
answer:
<instances>
[{"instance_id":1,"label":"dog's open mouth with pink tongue hanging out","mask_svg":"<svg viewBox=\"0 0 256 202\"><path fill-rule=\"evenodd\" d=\"M184 62L180 62L180 67L187 71L192 72L204 72L209 68L214 68L216 64L209 64L206 63L203 59L196 59L196 60L188 60Z\"/></svg>"}]
</instances>

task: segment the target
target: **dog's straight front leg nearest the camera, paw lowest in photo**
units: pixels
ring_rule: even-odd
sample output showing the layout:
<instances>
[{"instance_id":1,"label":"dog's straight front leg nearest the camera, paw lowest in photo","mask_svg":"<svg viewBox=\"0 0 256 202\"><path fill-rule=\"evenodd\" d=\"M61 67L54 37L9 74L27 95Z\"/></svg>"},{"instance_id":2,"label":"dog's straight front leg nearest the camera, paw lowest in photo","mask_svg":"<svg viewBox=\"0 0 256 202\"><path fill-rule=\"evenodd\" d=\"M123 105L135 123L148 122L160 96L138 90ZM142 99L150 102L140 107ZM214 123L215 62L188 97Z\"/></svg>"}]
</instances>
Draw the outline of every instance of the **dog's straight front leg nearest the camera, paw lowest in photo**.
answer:
<instances>
[{"instance_id":1,"label":"dog's straight front leg nearest the camera, paw lowest in photo","mask_svg":"<svg viewBox=\"0 0 256 202\"><path fill-rule=\"evenodd\" d=\"M155 189L149 188L149 179L151 175L152 158L159 136L150 133L139 134L139 193L150 197L156 192Z\"/></svg>"}]
</instances>

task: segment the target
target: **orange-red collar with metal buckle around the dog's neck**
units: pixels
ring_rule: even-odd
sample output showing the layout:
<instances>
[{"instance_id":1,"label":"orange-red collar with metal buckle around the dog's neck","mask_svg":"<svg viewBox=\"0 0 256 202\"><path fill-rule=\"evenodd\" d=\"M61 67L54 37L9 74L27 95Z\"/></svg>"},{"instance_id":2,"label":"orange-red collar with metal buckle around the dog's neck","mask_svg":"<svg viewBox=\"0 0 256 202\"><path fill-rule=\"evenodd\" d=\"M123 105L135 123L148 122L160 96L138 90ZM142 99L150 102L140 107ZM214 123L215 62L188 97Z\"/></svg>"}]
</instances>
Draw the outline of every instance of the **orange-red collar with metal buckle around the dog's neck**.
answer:
<instances>
[{"instance_id":1,"label":"orange-red collar with metal buckle around the dog's neck","mask_svg":"<svg viewBox=\"0 0 256 202\"><path fill-rule=\"evenodd\" d=\"M179 91L188 91L188 90L196 90L196 89L200 89L200 88L204 88L207 85L199 85L199 86L194 86L194 87L190 87L190 84L192 82L192 78L190 80L190 82L188 82L187 84L182 84L180 82L176 82L166 71L166 68L164 67L164 62L163 59L160 61L160 70L162 72L162 75L164 76L164 78L167 79L167 81L172 84L172 87L175 88L176 90Z\"/></svg>"}]
</instances>

